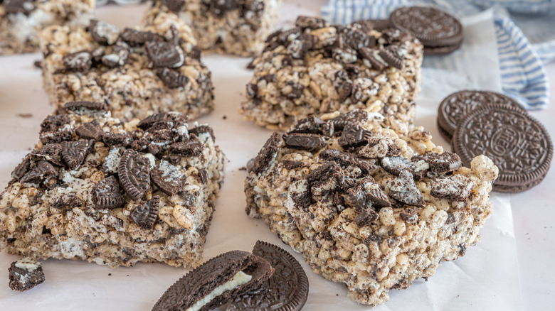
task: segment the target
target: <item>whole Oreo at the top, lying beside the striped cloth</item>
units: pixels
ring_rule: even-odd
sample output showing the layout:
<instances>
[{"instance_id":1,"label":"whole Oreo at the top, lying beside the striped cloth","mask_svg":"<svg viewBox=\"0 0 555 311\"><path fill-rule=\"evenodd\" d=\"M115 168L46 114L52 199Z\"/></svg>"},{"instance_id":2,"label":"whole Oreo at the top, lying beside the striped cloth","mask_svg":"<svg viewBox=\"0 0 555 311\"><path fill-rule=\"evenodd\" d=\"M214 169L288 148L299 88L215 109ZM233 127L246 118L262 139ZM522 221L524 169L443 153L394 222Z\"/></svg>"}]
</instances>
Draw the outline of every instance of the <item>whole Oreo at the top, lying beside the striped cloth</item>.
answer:
<instances>
[{"instance_id":1,"label":"whole Oreo at the top, lying beside the striped cloth","mask_svg":"<svg viewBox=\"0 0 555 311\"><path fill-rule=\"evenodd\" d=\"M447 55L462 44L462 24L454 16L426 6L406 6L389 16L391 26L421 40L424 55Z\"/></svg>"}]
</instances>

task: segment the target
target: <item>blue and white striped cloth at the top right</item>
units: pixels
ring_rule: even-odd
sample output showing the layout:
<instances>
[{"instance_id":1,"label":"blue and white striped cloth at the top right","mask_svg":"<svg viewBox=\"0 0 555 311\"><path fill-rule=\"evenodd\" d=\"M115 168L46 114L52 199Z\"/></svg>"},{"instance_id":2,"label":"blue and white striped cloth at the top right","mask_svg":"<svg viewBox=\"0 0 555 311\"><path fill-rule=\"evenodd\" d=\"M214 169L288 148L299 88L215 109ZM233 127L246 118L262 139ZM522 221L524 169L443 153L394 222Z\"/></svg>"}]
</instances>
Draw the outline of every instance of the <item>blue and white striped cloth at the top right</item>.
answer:
<instances>
[{"instance_id":1,"label":"blue and white striped cloth at the top right","mask_svg":"<svg viewBox=\"0 0 555 311\"><path fill-rule=\"evenodd\" d=\"M484 6L486 1L479 2L480 6ZM487 2L510 2L509 9L518 9L523 2L527 1ZM544 2L551 3L551 0L532 2L544 5ZM435 6L458 18L481 11L481 7L462 0L329 0L328 4L322 8L322 16L330 23L351 23L360 19L388 18L394 9L413 5ZM532 4L529 4L527 10L534 11ZM549 103L549 82L542 59L547 61L555 58L555 44L548 42L532 45L507 14L496 13L494 23L503 92L517 99L527 109L546 107ZM543 58L539 56L536 47L541 48L541 52L544 53ZM444 58L448 58L448 56ZM435 62L435 64L440 63ZM445 62L445 64L447 63Z\"/></svg>"}]
</instances>

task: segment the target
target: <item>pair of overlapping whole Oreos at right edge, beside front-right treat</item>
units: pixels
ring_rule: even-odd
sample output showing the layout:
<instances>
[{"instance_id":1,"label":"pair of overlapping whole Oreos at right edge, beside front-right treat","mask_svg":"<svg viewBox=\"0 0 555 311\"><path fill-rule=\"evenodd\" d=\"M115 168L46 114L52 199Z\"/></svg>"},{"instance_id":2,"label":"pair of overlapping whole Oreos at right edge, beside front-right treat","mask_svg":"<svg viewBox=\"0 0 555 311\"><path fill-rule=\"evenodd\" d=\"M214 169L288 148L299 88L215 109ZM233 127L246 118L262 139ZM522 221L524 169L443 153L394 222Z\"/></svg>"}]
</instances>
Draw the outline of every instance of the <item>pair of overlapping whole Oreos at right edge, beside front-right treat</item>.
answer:
<instances>
[{"instance_id":1,"label":"pair of overlapping whole Oreos at right edge, beside front-right treat","mask_svg":"<svg viewBox=\"0 0 555 311\"><path fill-rule=\"evenodd\" d=\"M498 192L522 192L544 179L553 144L544 126L514 99L487 91L460 91L443 99L438 128L464 165L485 154L499 168Z\"/></svg>"}]
</instances>

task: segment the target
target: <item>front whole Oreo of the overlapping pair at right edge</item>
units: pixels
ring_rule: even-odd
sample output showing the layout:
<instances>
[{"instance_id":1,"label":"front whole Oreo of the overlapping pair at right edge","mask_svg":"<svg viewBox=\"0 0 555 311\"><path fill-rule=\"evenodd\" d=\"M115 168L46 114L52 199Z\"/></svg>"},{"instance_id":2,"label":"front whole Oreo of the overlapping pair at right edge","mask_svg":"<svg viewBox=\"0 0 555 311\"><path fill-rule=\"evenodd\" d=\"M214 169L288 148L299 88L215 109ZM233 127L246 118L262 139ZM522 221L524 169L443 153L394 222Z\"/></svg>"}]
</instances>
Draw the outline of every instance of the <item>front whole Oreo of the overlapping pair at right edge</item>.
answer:
<instances>
[{"instance_id":1,"label":"front whole Oreo of the overlapping pair at right edge","mask_svg":"<svg viewBox=\"0 0 555 311\"><path fill-rule=\"evenodd\" d=\"M543 125L522 109L492 104L475 109L462 119L453 135L453 148L462 163L485 154L499 168L493 190L522 192L546 175L553 144Z\"/></svg>"}]
</instances>

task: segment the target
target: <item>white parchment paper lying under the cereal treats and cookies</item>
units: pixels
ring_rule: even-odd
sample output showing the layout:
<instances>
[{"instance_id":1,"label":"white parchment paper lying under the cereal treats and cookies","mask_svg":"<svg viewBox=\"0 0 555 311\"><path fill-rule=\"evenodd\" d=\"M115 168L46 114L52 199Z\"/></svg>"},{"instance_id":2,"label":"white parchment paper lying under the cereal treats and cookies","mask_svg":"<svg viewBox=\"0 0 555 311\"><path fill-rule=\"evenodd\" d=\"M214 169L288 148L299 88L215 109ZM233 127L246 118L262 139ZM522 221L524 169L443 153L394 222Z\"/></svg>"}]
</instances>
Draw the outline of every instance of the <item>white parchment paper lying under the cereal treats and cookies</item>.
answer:
<instances>
[{"instance_id":1,"label":"white parchment paper lying under the cereal treats and cookies","mask_svg":"<svg viewBox=\"0 0 555 311\"><path fill-rule=\"evenodd\" d=\"M298 12L312 10L304 1L285 1L282 21L294 21ZM98 10L100 18L118 26L139 21L145 6L107 7ZM416 123L433 133L435 143L449 144L435 126L441 99L459 89L499 90L497 51L491 13L465 20L465 44L446 58L427 58L423 69L422 92L417 102ZM41 88L40 70L33 61L40 55L0 58L0 185L9 181L11 170L38 141L41 120L51 112ZM240 170L258 153L270 136L242 120L237 113L244 97L245 83L252 73L245 70L249 60L211 55L204 58L216 86L216 111L200 121L213 126L216 143L228 157L226 180L216 204L208 232L204 258L240 249L250 251L262 239L282 244L268 227L244 212L243 182ZM448 70L437 69L448 62ZM435 66L430 67L430 66ZM31 113L29 118L16 114ZM224 118L225 116L225 118ZM512 214L507 195L492 193L494 212L481 231L481 241L464 257L442 263L428 281L416 280L406 290L392 290L391 300L375 310L519 310L517 253ZM310 280L310 295L303 310L372 310L346 297L342 284L331 283L310 271L302 257L294 253ZM17 256L0 253L0 310L150 310L164 290L189 270L157 263L112 269L93 263L50 259L43 262L46 282L16 293L8 288L8 267Z\"/></svg>"}]
</instances>

